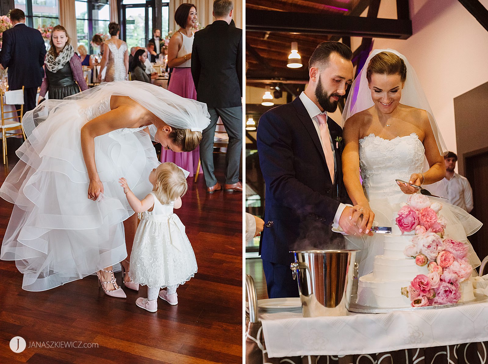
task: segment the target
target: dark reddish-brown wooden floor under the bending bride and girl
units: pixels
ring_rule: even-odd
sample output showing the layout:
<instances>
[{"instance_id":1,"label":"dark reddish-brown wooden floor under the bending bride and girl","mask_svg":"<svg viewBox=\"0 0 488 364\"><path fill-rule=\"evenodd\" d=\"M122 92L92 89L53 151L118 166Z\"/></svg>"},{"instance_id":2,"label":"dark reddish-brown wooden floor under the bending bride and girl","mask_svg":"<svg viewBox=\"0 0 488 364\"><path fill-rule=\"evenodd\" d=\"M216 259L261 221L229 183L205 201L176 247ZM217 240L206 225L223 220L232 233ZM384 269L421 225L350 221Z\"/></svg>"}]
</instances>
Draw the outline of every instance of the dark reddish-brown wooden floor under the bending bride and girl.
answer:
<instances>
[{"instance_id":1,"label":"dark reddish-brown wooden floor under the bending bride and girl","mask_svg":"<svg viewBox=\"0 0 488 364\"><path fill-rule=\"evenodd\" d=\"M12 168L15 141L8 143ZM223 182L225 156L216 158L217 178ZM0 169L0 182L5 174ZM0 199L1 238L11 210ZM242 193L208 195L200 177L196 184L189 182L177 213L198 273L178 288L178 305L158 300L157 313L135 305L137 297L147 297L145 286L140 292L125 288L127 299L112 298L89 276L27 292L20 288L15 263L0 261L0 363L242 363ZM120 283L121 274L116 277ZM27 342L19 354L9 348L15 336ZM29 348L32 342L96 343L98 348Z\"/></svg>"}]
</instances>

